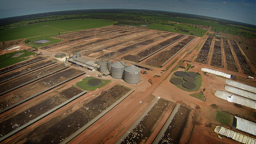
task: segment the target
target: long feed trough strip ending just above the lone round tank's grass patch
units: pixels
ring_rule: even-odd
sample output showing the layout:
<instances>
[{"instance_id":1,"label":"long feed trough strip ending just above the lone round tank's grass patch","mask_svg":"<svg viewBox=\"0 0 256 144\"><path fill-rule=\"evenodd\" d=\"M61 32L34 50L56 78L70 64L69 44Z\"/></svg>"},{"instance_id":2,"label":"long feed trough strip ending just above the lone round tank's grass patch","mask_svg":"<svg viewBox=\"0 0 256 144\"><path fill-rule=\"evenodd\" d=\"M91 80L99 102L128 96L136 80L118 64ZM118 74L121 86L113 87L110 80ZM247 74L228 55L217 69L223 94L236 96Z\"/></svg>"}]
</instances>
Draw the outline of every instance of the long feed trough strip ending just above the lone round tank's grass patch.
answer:
<instances>
[{"instance_id":1,"label":"long feed trough strip ending just above the lone round tank's grass patch","mask_svg":"<svg viewBox=\"0 0 256 144\"><path fill-rule=\"evenodd\" d=\"M8 110L10 110L10 109L13 109L13 108L16 107L16 106L19 106L19 105L21 105L22 103L25 103L25 102L29 101L30 99L33 99L33 98L35 98L35 97L38 97L39 95L44 94L44 93L46 93L47 91L49 91L49 90L51 90L51 89L54 89L55 87L58 87L58 86L60 86L60 85L63 85L64 83L69 82L69 81L71 81L71 80L73 80L73 79L75 79L75 78L77 78L77 77L80 77L80 76L83 75L83 74L86 74L86 72L82 72L82 73L80 73L80 74L78 74L78 75L75 75L74 77L71 77L71 78L69 78L69 79L66 79L66 80L63 81L63 82L57 83L56 85L53 85L53 86L49 87L48 89L45 89L45 90L43 90L43 91L40 91L39 93L34 94L34 95L32 95L32 96L30 96L30 97L28 97L28 98L26 98L26 99L23 99L22 101L17 102L17 103L15 103L14 105L11 105L11 106L9 106L9 107L3 109L2 111L0 111L0 114L5 113L6 111L8 111Z\"/></svg>"}]
</instances>

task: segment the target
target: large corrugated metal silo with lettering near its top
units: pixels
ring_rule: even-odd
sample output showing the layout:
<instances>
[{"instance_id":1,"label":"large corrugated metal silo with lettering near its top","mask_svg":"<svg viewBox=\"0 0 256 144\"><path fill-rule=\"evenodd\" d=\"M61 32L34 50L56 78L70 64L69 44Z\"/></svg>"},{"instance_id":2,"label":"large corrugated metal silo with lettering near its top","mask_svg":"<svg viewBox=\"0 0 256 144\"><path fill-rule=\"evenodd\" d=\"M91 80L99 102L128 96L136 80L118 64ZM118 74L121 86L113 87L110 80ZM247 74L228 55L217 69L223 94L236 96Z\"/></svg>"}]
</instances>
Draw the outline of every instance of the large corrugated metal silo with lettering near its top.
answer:
<instances>
[{"instance_id":1,"label":"large corrugated metal silo with lettering near its top","mask_svg":"<svg viewBox=\"0 0 256 144\"><path fill-rule=\"evenodd\" d=\"M126 67L125 82L130 84L141 82L141 69L134 65Z\"/></svg>"}]
</instances>

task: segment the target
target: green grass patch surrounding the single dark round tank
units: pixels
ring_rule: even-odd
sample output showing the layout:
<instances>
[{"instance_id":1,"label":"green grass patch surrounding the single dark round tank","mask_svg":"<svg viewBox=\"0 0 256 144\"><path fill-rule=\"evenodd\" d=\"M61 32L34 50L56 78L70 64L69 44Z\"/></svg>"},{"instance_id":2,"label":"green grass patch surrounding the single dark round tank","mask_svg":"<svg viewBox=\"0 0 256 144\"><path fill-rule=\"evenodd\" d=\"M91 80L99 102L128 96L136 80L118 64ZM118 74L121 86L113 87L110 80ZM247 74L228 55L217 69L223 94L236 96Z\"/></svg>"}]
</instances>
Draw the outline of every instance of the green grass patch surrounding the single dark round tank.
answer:
<instances>
[{"instance_id":1,"label":"green grass patch surrounding the single dark round tank","mask_svg":"<svg viewBox=\"0 0 256 144\"><path fill-rule=\"evenodd\" d=\"M82 81L76 83L75 85L80 87L81 89L87 90L87 91L94 91L97 88L101 88L102 86L106 85L107 83L111 82L109 80L105 80L105 79L101 79L101 85L99 86L89 86L87 84L87 81L89 81L89 79L93 79L94 77L86 77L84 79L82 79Z\"/></svg>"}]
</instances>

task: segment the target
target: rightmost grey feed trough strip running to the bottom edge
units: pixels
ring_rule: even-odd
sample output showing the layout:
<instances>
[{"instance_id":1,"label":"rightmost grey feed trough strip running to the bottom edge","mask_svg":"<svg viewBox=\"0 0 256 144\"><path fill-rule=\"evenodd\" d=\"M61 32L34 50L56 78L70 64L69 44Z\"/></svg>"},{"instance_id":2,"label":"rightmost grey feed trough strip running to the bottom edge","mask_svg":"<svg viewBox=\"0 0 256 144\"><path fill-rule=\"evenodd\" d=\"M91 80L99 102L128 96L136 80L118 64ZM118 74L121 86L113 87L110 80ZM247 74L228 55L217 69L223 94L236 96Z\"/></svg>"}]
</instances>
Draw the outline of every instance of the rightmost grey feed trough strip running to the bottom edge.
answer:
<instances>
[{"instance_id":1,"label":"rightmost grey feed trough strip running to the bottom edge","mask_svg":"<svg viewBox=\"0 0 256 144\"><path fill-rule=\"evenodd\" d=\"M159 141L161 140L163 134L165 133L165 131L167 130L168 126L170 125L171 121L173 120L175 114L177 113L179 107L181 106L180 103L177 103L177 105L175 106L175 108L173 109L173 112L171 112L169 118L167 119L167 121L165 122L165 125L163 125L161 131L158 133L157 137L155 138L155 140L153 141L153 144L157 144L159 143Z\"/></svg>"}]
</instances>

